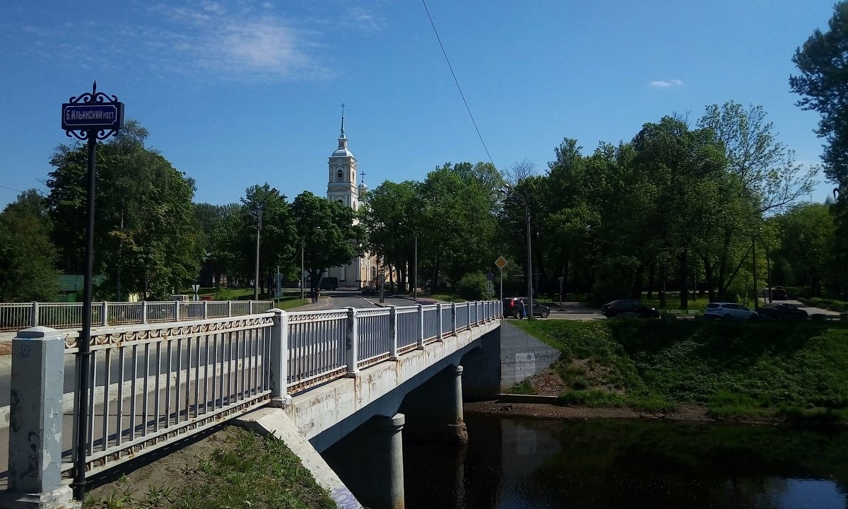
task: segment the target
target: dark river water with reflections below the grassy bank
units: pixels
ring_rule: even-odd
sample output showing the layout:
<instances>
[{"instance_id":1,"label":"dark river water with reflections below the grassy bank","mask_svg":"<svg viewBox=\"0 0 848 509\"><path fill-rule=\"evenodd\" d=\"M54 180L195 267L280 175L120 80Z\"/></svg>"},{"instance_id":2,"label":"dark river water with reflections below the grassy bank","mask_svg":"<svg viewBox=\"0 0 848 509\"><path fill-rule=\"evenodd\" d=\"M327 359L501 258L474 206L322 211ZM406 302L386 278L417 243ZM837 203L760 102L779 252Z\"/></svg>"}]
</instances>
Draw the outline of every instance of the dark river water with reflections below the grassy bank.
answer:
<instances>
[{"instance_id":1,"label":"dark river water with reflections below the grassy bank","mask_svg":"<svg viewBox=\"0 0 848 509\"><path fill-rule=\"evenodd\" d=\"M404 444L407 509L844 508L848 433L469 417L470 444Z\"/></svg>"}]
</instances>

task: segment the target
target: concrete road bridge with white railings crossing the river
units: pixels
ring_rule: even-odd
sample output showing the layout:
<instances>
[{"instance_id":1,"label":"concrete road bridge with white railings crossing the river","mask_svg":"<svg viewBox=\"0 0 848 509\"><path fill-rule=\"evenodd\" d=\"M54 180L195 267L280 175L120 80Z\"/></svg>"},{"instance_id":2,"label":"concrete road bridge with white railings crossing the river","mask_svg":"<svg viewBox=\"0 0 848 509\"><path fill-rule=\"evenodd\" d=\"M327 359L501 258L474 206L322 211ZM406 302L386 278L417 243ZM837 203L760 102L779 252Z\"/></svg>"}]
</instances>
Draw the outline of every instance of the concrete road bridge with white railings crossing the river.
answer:
<instances>
[{"instance_id":1,"label":"concrete road bridge with white railings crossing the river","mask_svg":"<svg viewBox=\"0 0 848 509\"><path fill-rule=\"evenodd\" d=\"M501 317L499 301L478 301L96 327L87 338L86 394L78 388L80 333L22 330L13 340L10 405L0 408L8 425L0 506L72 504L76 465L90 477L231 419L295 430L304 441L296 452L310 456L304 465L321 462L317 453L354 429L377 430L360 451L372 474L385 476L372 483L383 499L375 503L402 503L400 430L405 423L433 439L466 439L460 359L475 350L482 366L481 345L499 342ZM470 382L499 390L497 376L477 372ZM418 426L404 409L421 416ZM343 484L329 478L342 489L332 494L339 506L349 506L339 502L349 495Z\"/></svg>"}]
</instances>

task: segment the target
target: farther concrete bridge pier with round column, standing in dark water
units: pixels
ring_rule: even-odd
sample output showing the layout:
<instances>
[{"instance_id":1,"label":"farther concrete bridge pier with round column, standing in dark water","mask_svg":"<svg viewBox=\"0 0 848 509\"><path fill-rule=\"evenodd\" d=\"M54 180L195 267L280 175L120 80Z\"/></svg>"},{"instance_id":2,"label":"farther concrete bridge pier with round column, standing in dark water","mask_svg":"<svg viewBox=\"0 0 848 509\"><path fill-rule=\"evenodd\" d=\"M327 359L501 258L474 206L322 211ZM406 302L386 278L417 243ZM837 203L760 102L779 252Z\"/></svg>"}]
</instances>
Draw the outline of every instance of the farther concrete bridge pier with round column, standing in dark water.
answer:
<instances>
[{"instance_id":1,"label":"farther concrete bridge pier with round column, standing in dark water","mask_svg":"<svg viewBox=\"0 0 848 509\"><path fill-rule=\"evenodd\" d=\"M447 366L406 395L400 411L410 417L407 439L468 443L468 430L462 418L462 371L462 366Z\"/></svg>"}]
</instances>

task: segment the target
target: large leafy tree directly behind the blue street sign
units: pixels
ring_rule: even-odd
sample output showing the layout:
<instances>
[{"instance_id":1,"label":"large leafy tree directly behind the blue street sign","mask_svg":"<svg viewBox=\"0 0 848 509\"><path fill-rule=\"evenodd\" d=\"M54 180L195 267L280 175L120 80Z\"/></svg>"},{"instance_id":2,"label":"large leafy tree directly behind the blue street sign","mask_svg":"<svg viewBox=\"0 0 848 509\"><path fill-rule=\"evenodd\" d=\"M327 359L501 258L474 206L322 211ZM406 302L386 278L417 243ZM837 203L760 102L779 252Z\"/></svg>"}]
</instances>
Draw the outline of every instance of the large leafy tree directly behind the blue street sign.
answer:
<instances>
[{"instance_id":1,"label":"large leafy tree directly behind the blue street sign","mask_svg":"<svg viewBox=\"0 0 848 509\"><path fill-rule=\"evenodd\" d=\"M203 260L193 181L146 148L147 137L128 120L98 148L94 267L107 275L102 288L119 299L127 292L164 298L196 281ZM81 271L83 260L86 158L81 144L59 146L47 180L53 239L72 272Z\"/></svg>"}]
</instances>

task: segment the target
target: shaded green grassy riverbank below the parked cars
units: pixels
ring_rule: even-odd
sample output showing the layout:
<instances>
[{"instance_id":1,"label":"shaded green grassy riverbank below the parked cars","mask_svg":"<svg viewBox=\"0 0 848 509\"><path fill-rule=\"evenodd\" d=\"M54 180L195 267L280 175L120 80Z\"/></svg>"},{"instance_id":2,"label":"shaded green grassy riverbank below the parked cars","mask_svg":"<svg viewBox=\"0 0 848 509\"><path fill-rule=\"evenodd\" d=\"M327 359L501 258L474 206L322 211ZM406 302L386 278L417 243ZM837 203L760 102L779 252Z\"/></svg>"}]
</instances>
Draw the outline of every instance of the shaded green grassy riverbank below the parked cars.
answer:
<instances>
[{"instance_id":1,"label":"shaded green grassy riverbank below the parked cars","mask_svg":"<svg viewBox=\"0 0 848 509\"><path fill-rule=\"evenodd\" d=\"M516 325L561 351L553 367L566 387L565 405L673 411L695 403L712 417L848 419L848 327L842 324Z\"/></svg>"}]
</instances>

